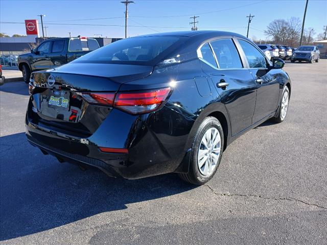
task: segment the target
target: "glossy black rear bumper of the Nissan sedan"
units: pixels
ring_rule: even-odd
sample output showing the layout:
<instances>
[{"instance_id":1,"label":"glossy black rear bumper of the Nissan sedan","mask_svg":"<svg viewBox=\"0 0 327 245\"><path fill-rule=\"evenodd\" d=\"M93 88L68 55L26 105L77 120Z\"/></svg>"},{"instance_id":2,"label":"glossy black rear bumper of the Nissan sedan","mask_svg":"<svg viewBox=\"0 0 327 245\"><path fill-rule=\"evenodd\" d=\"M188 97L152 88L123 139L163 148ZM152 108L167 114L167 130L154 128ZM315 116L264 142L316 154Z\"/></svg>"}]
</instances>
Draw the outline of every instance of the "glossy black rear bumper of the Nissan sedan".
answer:
<instances>
[{"instance_id":1,"label":"glossy black rear bumper of the Nissan sedan","mask_svg":"<svg viewBox=\"0 0 327 245\"><path fill-rule=\"evenodd\" d=\"M132 116L113 110L94 134L80 138L46 128L42 124L36 125L29 119L28 114L27 138L43 153L53 155L61 162L92 165L103 170L108 176L126 179L139 179L176 171L186 155L184 147L193 125L192 120L184 121L185 118L179 113L172 112L166 107L155 114L142 116ZM165 128L170 120L180 121L186 128L185 134L170 135L169 128ZM125 148L129 152L105 153L99 150L99 146Z\"/></svg>"}]
</instances>

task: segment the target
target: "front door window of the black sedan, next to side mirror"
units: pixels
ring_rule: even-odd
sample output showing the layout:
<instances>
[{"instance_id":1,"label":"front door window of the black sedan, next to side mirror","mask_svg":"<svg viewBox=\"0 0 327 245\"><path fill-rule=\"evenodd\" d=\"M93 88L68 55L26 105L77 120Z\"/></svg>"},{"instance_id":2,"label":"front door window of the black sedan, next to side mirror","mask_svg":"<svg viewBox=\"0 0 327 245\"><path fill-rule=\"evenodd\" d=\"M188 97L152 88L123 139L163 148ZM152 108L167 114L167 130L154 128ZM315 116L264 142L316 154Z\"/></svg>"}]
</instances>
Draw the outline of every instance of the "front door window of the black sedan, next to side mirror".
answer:
<instances>
[{"instance_id":1,"label":"front door window of the black sedan, next to side mirror","mask_svg":"<svg viewBox=\"0 0 327 245\"><path fill-rule=\"evenodd\" d=\"M240 45L245 53L246 59L249 63L250 68L266 68L266 58L260 53L252 44L244 40L240 40Z\"/></svg>"}]
</instances>

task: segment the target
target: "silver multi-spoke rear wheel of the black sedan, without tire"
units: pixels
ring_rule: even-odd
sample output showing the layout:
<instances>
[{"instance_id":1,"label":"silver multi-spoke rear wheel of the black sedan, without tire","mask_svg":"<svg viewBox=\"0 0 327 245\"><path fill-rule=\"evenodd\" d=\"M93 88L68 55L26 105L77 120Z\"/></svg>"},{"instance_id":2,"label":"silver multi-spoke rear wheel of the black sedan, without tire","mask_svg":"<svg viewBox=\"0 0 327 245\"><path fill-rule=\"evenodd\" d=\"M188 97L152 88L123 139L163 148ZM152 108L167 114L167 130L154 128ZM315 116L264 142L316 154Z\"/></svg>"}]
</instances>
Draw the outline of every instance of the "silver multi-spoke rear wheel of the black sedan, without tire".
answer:
<instances>
[{"instance_id":1,"label":"silver multi-spoke rear wheel of the black sedan, without tire","mask_svg":"<svg viewBox=\"0 0 327 245\"><path fill-rule=\"evenodd\" d=\"M217 167L221 149L218 129L209 128L203 135L198 152L198 168L202 175L208 176Z\"/></svg>"}]
</instances>

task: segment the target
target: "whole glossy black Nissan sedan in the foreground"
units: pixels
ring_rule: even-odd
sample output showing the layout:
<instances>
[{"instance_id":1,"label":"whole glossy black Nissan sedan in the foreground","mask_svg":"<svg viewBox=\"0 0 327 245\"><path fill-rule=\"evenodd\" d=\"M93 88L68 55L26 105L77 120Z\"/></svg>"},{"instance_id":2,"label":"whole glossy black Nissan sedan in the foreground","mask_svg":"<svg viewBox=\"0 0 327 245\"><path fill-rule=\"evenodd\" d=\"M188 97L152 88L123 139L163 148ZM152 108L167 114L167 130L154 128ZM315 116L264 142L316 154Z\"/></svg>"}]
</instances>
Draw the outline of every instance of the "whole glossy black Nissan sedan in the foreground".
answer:
<instances>
[{"instance_id":1,"label":"whole glossy black Nissan sedan in the foreground","mask_svg":"<svg viewBox=\"0 0 327 245\"><path fill-rule=\"evenodd\" d=\"M201 185L233 140L286 118L283 66L236 33L123 39L33 72L26 134L60 162L127 179L174 172Z\"/></svg>"}]
</instances>

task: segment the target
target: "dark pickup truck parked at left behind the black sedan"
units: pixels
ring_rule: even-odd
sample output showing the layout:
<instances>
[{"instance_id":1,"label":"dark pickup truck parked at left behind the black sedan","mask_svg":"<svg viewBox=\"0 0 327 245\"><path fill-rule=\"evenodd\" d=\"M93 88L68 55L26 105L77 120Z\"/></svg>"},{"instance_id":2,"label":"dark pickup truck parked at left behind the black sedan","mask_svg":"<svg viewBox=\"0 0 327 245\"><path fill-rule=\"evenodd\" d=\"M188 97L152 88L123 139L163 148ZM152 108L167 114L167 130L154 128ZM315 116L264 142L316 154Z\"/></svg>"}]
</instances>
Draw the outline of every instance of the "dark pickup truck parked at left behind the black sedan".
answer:
<instances>
[{"instance_id":1,"label":"dark pickup truck parked at left behind the black sedan","mask_svg":"<svg viewBox=\"0 0 327 245\"><path fill-rule=\"evenodd\" d=\"M18 68L22 77L29 83L31 72L54 68L71 62L99 48L94 38L65 37L44 40L31 53L18 56Z\"/></svg>"}]
</instances>

